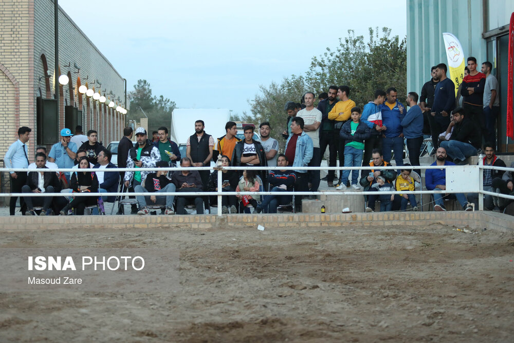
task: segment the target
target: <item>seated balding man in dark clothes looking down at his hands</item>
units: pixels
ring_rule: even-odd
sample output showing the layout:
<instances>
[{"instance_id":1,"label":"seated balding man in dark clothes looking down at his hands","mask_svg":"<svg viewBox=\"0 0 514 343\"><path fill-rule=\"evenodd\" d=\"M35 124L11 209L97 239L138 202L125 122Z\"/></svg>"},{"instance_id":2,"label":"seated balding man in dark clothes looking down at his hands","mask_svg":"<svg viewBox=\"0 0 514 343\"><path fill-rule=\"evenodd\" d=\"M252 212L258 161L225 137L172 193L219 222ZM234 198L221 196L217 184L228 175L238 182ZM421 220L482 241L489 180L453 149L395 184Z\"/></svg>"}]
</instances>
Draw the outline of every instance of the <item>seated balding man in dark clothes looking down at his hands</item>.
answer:
<instances>
[{"instance_id":1,"label":"seated balding man in dark clothes looking down at his hands","mask_svg":"<svg viewBox=\"0 0 514 343\"><path fill-rule=\"evenodd\" d=\"M191 160L182 157L180 167L191 167ZM201 192L204 184L201 182L200 174L197 170L180 170L172 174L172 182L178 192ZM196 213L204 214L204 200L200 195L180 195L177 197L177 214L186 214L186 205L195 204Z\"/></svg>"}]
</instances>

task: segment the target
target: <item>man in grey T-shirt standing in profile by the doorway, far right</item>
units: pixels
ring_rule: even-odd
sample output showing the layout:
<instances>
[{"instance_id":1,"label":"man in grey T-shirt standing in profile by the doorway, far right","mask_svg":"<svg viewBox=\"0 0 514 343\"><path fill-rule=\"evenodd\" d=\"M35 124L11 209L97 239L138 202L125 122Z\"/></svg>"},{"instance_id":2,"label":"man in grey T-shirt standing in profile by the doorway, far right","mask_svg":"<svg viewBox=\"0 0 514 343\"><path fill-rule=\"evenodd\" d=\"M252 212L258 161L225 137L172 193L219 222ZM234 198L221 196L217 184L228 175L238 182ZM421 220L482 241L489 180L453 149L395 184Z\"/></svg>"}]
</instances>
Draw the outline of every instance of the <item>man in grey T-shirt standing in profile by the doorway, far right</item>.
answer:
<instances>
[{"instance_id":1,"label":"man in grey T-shirt standing in profile by the doorway, far right","mask_svg":"<svg viewBox=\"0 0 514 343\"><path fill-rule=\"evenodd\" d=\"M498 97L498 80L491 74L491 62L482 63L482 73L486 76L484 86L484 120L485 134L484 138L496 147L496 130L494 125L500 113L500 97Z\"/></svg>"}]
</instances>

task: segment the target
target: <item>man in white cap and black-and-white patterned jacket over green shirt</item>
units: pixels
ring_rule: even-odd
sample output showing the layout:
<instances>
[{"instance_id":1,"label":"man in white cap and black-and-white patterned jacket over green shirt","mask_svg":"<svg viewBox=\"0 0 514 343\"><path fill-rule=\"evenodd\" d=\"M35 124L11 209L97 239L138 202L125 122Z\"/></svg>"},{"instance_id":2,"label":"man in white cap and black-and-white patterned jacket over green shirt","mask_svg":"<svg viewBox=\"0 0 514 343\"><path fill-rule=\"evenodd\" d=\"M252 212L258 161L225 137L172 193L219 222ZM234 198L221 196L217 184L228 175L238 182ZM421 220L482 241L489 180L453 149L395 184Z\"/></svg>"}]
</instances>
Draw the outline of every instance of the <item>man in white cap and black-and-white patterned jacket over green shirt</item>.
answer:
<instances>
[{"instance_id":1,"label":"man in white cap and black-and-white patterned jacket over green shirt","mask_svg":"<svg viewBox=\"0 0 514 343\"><path fill-rule=\"evenodd\" d=\"M136 129L137 145L128 151L127 168L155 168L160 161L159 149L156 148L146 135L144 128ZM127 171L125 172L125 187L132 188L141 185L150 172L148 171Z\"/></svg>"}]
</instances>

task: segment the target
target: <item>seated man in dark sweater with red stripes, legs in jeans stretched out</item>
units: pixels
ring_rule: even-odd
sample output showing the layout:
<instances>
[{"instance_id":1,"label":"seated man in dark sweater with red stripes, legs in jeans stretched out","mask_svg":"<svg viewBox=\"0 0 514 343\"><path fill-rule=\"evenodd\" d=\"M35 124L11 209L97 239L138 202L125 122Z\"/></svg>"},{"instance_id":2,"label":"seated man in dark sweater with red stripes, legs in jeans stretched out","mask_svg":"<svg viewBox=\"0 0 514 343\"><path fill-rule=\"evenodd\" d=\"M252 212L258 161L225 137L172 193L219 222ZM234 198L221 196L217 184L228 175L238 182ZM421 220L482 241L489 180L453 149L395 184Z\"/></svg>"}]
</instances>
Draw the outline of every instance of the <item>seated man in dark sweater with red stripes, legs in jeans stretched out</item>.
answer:
<instances>
[{"instance_id":1,"label":"seated man in dark sweater with red stripes, legs in jeans stretched out","mask_svg":"<svg viewBox=\"0 0 514 343\"><path fill-rule=\"evenodd\" d=\"M277 157L277 167L287 167L288 161L284 154ZM295 187L296 175L292 170L272 170L268 174L270 192L292 192ZM262 203L255 208L255 212L261 213L268 209L268 213L277 213L278 205L286 205L292 200L292 195L264 195Z\"/></svg>"}]
</instances>

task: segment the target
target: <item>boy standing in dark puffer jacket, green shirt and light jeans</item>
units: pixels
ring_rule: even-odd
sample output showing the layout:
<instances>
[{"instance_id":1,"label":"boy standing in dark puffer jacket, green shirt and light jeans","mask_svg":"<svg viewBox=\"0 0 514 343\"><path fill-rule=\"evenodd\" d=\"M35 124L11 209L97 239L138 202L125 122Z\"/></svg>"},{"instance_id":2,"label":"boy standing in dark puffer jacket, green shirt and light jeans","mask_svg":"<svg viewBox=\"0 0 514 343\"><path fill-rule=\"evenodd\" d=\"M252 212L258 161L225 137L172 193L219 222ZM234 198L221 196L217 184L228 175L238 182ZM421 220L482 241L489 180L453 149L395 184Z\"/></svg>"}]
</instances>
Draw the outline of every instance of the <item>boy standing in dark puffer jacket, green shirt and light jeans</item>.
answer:
<instances>
[{"instance_id":1,"label":"boy standing in dark puffer jacket, green shirt and light jeans","mask_svg":"<svg viewBox=\"0 0 514 343\"><path fill-rule=\"evenodd\" d=\"M351 118L343 124L339 136L345 140L344 145L344 167L360 167L362 166L362 154L364 152L364 140L370 138L371 129L363 121L360 120L361 111L359 107L353 107ZM346 181L350 170L343 170L339 186L337 190L346 189ZM352 170L352 188L360 189L357 184L359 171Z\"/></svg>"}]
</instances>

